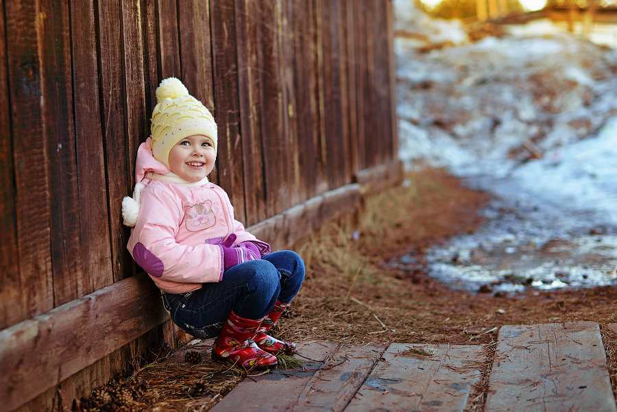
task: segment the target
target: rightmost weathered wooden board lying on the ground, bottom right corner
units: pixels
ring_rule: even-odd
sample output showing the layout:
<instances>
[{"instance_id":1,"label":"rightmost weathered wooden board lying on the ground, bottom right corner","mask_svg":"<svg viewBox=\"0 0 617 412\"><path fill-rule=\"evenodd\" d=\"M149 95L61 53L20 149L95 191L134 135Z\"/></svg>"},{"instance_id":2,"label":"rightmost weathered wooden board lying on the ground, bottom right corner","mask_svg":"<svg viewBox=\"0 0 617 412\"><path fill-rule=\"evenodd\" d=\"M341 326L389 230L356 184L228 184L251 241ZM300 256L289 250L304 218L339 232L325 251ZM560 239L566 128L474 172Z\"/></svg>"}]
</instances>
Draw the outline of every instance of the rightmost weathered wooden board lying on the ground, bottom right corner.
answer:
<instances>
[{"instance_id":1,"label":"rightmost weathered wooden board lying on the ground, bottom right corner","mask_svg":"<svg viewBox=\"0 0 617 412\"><path fill-rule=\"evenodd\" d=\"M616 411L598 324L503 326L484 411Z\"/></svg>"}]
</instances>

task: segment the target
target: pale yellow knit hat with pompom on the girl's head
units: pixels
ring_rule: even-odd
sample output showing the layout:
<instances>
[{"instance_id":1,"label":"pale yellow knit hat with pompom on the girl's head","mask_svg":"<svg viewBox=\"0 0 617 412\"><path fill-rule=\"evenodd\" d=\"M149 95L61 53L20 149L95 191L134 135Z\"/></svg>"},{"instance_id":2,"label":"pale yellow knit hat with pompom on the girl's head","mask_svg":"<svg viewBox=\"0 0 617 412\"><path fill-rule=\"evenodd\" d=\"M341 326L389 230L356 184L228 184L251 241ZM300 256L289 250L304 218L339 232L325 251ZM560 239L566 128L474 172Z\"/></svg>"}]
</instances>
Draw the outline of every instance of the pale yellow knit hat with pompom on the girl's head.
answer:
<instances>
[{"instance_id":1,"label":"pale yellow knit hat with pompom on the girl's head","mask_svg":"<svg viewBox=\"0 0 617 412\"><path fill-rule=\"evenodd\" d=\"M156 88L152 112L152 153L169 168L169 152L183 138L202 134L212 139L217 152L217 123L201 101L189 95L186 86L168 77Z\"/></svg>"}]
</instances>

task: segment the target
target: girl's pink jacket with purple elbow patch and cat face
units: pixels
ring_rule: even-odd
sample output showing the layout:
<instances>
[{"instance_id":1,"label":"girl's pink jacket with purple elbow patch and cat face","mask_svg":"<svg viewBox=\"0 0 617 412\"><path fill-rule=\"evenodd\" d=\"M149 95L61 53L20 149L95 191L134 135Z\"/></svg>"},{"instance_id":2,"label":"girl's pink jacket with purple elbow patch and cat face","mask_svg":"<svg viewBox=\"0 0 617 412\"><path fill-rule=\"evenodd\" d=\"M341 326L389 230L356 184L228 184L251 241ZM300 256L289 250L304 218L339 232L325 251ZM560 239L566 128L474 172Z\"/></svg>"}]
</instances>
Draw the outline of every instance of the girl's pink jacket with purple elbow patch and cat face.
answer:
<instances>
[{"instance_id":1,"label":"girl's pink jacket with purple elbow patch and cat face","mask_svg":"<svg viewBox=\"0 0 617 412\"><path fill-rule=\"evenodd\" d=\"M223 278L219 244L232 233L237 236L235 244L252 241L262 256L269 253L267 243L234 219L223 189L207 180L198 186L181 180L152 156L149 139L137 152L136 182L148 177L152 180L141 191L141 208L127 247L161 291L186 293L204 282L219 282Z\"/></svg>"}]
</instances>

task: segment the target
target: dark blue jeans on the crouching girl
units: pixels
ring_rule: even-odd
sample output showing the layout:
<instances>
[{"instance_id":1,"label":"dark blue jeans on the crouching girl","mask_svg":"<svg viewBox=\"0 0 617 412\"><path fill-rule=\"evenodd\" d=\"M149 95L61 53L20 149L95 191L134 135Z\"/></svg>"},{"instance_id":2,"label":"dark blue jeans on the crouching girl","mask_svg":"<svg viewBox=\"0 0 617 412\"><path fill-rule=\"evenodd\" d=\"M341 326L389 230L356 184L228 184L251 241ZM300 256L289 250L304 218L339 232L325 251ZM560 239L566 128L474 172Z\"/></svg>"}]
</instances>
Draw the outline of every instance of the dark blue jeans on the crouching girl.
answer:
<instances>
[{"instance_id":1,"label":"dark blue jeans on the crouching girl","mask_svg":"<svg viewBox=\"0 0 617 412\"><path fill-rule=\"evenodd\" d=\"M187 293L162 293L173 323L199 338L219 335L233 311L245 319L261 319L276 301L289 303L304 281L304 261L291 250L267 254L231 267L223 280L204 283Z\"/></svg>"}]
</instances>

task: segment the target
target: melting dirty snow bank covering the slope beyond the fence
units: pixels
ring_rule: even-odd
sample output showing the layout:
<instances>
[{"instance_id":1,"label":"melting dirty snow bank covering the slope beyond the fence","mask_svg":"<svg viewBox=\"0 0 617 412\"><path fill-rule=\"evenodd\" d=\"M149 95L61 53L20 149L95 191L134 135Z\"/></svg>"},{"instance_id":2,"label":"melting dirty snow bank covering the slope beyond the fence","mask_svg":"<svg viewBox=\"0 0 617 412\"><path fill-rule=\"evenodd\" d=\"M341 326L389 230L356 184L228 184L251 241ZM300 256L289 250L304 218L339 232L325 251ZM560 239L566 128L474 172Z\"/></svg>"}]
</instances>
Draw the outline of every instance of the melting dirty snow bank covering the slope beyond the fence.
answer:
<instances>
[{"instance_id":1,"label":"melting dirty snow bank covering the slope beyond the fence","mask_svg":"<svg viewBox=\"0 0 617 412\"><path fill-rule=\"evenodd\" d=\"M409 3L395 1L407 29L456 31ZM494 291L617 284L617 51L546 36L546 22L509 32L429 53L396 40L399 157L495 196L487 224L432 250L428 269ZM568 241L561 262L541 250L555 239ZM501 269L485 253L521 266ZM589 263L594 256L603 261Z\"/></svg>"}]
</instances>

